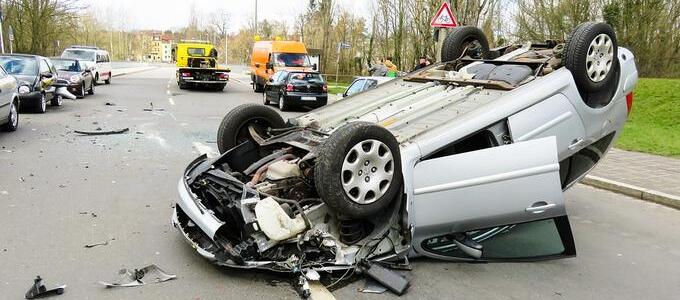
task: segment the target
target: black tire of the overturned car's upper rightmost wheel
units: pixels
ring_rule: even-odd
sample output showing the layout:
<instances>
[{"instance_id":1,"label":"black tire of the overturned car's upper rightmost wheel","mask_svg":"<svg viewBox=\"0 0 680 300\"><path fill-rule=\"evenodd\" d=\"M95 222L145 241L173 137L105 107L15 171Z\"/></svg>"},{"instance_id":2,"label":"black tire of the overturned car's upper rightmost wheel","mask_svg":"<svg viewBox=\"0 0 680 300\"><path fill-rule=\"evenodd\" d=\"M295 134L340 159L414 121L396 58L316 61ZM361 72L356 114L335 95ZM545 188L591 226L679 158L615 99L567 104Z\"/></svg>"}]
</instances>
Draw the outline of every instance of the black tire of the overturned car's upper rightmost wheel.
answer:
<instances>
[{"instance_id":1,"label":"black tire of the overturned car's upper rightmost wheel","mask_svg":"<svg viewBox=\"0 0 680 300\"><path fill-rule=\"evenodd\" d=\"M591 43L596 42L596 38L602 38L605 35L611 41L612 53L603 53L601 49L592 49ZM571 32L567 38L564 46L564 66L571 71L574 76L574 81L582 94L599 92L603 89L608 89L612 84L616 84L618 72L618 44L616 42L616 34L609 24L587 22L580 24ZM599 53L599 54L598 54ZM589 56L599 56L597 62L588 62ZM602 56L600 56L602 55ZM606 56L612 55L609 62L609 68L604 75L601 72L589 72L589 67L602 63L607 65ZM604 58L604 59L603 59ZM595 75L595 74L599 75ZM591 76L592 75L592 76ZM598 78L604 76L603 78ZM595 78L593 78L595 77Z\"/></svg>"}]
</instances>

